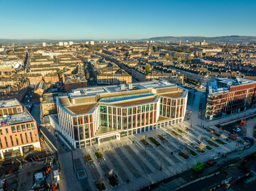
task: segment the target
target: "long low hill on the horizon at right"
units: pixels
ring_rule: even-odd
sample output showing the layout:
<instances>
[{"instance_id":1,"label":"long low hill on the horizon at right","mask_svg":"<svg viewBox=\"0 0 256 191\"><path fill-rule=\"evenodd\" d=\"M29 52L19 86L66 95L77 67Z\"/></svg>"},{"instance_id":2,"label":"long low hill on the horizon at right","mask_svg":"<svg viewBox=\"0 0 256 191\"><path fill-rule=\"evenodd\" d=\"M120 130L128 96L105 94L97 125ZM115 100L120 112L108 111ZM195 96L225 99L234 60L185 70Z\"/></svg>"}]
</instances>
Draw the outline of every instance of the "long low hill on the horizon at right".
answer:
<instances>
[{"instance_id":1,"label":"long low hill on the horizon at right","mask_svg":"<svg viewBox=\"0 0 256 191\"><path fill-rule=\"evenodd\" d=\"M141 39L143 40L162 40L162 41L171 41L177 42L181 39L181 41L188 40L189 42L242 42L242 41L256 41L256 36L216 36L216 37L204 37L204 36L163 36L163 37L153 37L149 39ZM137 40L139 41L139 40Z\"/></svg>"}]
</instances>

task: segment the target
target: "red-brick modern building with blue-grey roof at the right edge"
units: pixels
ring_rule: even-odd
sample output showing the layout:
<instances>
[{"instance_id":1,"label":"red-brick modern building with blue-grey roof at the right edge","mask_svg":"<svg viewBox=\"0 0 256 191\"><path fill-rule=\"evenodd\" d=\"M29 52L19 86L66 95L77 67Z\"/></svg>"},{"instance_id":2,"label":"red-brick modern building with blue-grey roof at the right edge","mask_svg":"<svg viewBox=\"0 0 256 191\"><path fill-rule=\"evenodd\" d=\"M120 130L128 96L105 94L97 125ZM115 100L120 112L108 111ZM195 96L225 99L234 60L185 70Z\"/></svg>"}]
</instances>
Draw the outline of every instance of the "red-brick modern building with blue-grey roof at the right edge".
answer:
<instances>
[{"instance_id":1,"label":"red-brick modern building with blue-grey roof at the right edge","mask_svg":"<svg viewBox=\"0 0 256 191\"><path fill-rule=\"evenodd\" d=\"M207 82L206 113L213 118L238 113L256 104L256 81L244 78L215 78Z\"/></svg>"}]
</instances>

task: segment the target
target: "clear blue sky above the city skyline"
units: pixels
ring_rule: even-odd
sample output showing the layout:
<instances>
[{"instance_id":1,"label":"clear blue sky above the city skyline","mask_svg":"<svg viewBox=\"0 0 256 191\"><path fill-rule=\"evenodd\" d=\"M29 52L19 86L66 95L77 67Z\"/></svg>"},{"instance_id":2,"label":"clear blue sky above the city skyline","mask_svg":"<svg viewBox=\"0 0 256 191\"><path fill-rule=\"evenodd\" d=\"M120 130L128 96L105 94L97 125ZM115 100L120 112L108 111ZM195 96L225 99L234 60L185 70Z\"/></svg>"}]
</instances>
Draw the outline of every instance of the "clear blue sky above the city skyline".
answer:
<instances>
[{"instance_id":1,"label":"clear blue sky above the city skyline","mask_svg":"<svg viewBox=\"0 0 256 191\"><path fill-rule=\"evenodd\" d=\"M256 36L255 0L0 0L0 39Z\"/></svg>"}]
</instances>

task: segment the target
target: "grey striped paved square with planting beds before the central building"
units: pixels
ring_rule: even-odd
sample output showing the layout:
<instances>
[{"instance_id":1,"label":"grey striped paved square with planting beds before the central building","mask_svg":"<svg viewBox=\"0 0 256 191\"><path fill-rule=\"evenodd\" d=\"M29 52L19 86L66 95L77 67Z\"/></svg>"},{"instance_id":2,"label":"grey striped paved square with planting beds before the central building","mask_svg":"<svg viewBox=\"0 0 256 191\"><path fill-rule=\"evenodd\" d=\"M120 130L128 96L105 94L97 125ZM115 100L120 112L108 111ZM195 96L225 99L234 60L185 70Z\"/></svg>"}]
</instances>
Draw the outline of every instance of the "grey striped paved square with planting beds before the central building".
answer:
<instances>
[{"instance_id":1,"label":"grey striped paved square with planting beds before the central building","mask_svg":"<svg viewBox=\"0 0 256 191\"><path fill-rule=\"evenodd\" d=\"M121 140L113 137L113 139L106 141L102 140L101 145L93 144L91 147L73 151L73 158L80 158L82 162L88 176L86 179L78 181L76 174L74 174L71 152L61 154L60 189L86 190L88 187L85 185L89 185L89 190L96 191L96 184L99 183L99 178L102 177L108 190L139 190L150 185L152 182L157 183L170 176L187 171L193 165L196 165L197 162L203 163L208 159L222 155L222 153L228 153L235 149L239 150L236 144L240 138L235 141L222 140L225 144L220 144L211 139L214 135L201 127L202 123L204 127L213 126L213 128L218 130L213 124L218 124L218 121L222 120L207 121L198 118L200 115L198 105L199 102L202 102L200 96L202 94L199 91L199 94L195 96L192 106L188 106L187 112L192 111L192 120L186 119L182 123L162 126L162 128L138 133L137 135L122 136ZM193 94L191 95L191 98L193 98ZM189 100L190 102L192 102L192 99ZM254 111L250 110L250 112ZM253 121L256 122L256 119L253 119ZM178 129L181 129L182 125L187 127L187 129L182 129L184 132L180 133ZM170 133L171 131L176 132L177 135L173 135ZM157 135L161 135L164 140L159 140ZM147 142L150 144L146 147L146 155L145 146L140 141L144 136L147 137ZM199 146L199 136L201 137L200 141L208 146L203 148L203 153L195 149ZM148 139L149 137L153 137L160 145L156 146ZM211 141L215 146L207 141ZM186 148L193 152L188 152ZM92 158L92 161L87 163L84 159L86 149L91 150L90 156ZM252 149L255 150L255 147ZM98 151L101 152L103 158L97 159L94 155ZM189 158L186 160L179 153L184 153ZM206 168L206 171L211 172L212 167L207 166ZM113 169L113 175L116 175L119 183L119 186L114 188L110 186L107 180L109 178L108 172L111 169ZM180 180L180 183L184 183L184 180Z\"/></svg>"}]
</instances>

